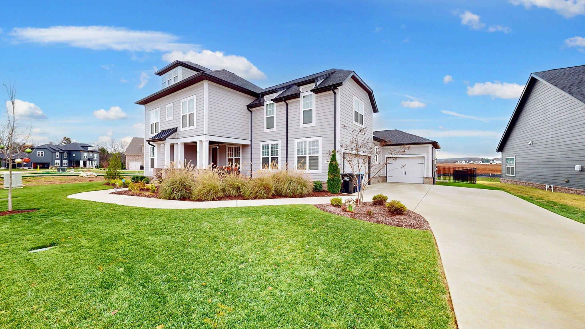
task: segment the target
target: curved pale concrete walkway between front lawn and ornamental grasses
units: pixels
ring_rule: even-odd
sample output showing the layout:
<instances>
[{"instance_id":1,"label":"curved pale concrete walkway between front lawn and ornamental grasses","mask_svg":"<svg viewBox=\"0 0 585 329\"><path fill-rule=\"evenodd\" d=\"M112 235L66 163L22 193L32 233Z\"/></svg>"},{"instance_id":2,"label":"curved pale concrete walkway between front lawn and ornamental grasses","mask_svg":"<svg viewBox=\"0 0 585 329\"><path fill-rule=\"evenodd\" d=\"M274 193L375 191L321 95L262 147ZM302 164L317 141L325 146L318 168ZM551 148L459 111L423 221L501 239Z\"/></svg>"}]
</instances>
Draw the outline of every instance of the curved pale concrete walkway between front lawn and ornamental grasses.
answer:
<instances>
[{"instance_id":1,"label":"curved pale concrete walkway between front lawn and ornamental grasses","mask_svg":"<svg viewBox=\"0 0 585 329\"><path fill-rule=\"evenodd\" d=\"M128 190L128 189L124 189ZM331 197L315 198L279 198L266 200L228 200L228 201L177 201L158 198L145 198L111 194L113 190L100 190L71 194L68 198L130 205L133 207L159 209L195 209L195 208L222 208L222 207L250 207L253 205L282 205L282 204L320 204L329 203ZM343 198L345 200L345 198Z\"/></svg>"}]
</instances>

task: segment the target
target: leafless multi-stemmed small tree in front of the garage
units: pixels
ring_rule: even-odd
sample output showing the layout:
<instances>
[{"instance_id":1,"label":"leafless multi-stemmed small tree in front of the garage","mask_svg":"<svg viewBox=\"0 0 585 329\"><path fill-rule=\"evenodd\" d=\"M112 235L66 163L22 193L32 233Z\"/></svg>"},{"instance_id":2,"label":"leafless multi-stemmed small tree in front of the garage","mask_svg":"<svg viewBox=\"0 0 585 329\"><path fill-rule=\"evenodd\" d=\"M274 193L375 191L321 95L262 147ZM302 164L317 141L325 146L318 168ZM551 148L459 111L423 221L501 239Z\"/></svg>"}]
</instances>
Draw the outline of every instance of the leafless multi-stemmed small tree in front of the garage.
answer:
<instances>
[{"instance_id":1,"label":"leafless multi-stemmed small tree in front of the garage","mask_svg":"<svg viewBox=\"0 0 585 329\"><path fill-rule=\"evenodd\" d=\"M349 132L351 138L347 144L340 143L340 149L337 152L346 166L345 171L354 173L350 176L350 180L357 187L358 206L361 206L364 201L364 191L370 182L383 177L388 163L396 161L397 156L404 155L410 146L400 146L398 149L388 148L386 153L383 153L381 146L389 144L389 140L381 140L378 145L373 142L371 132L366 127L356 130L343 125L342 128Z\"/></svg>"}]
</instances>

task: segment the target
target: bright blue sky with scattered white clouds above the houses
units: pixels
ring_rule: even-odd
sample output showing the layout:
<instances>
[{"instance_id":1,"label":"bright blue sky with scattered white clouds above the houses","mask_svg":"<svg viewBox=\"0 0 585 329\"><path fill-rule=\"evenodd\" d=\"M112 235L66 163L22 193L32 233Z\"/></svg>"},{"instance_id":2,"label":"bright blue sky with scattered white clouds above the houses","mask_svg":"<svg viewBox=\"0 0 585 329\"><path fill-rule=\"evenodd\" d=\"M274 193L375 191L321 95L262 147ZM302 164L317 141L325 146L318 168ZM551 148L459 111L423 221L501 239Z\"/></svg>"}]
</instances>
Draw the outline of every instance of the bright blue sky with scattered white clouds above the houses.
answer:
<instances>
[{"instance_id":1,"label":"bright blue sky with scattered white clouds above the houses","mask_svg":"<svg viewBox=\"0 0 585 329\"><path fill-rule=\"evenodd\" d=\"M3 12L0 78L16 81L37 142L142 136L134 102L160 89L156 68L185 59L260 87L354 70L374 90L375 129L437 140L438 157L494 157L529 74L585 64L585 0L27 1Z\"/></svg>"}]
</instances>

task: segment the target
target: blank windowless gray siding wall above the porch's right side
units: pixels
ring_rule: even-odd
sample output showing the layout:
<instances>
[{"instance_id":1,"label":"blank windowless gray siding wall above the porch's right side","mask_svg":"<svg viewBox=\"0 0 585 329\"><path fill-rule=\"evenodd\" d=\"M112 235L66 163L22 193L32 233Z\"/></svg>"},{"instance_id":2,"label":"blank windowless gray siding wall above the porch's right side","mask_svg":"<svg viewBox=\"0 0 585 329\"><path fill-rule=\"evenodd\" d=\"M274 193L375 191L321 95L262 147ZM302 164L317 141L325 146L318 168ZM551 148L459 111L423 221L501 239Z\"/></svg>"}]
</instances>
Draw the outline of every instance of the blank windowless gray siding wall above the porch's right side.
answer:
<instances>
[{"instance_id":1,"label":"blank windowless gray siding wall above the porch's right side","mask_svg":"<svg viewBox=\"0 0 585 329\"><path fill-rule=\"evenodd\" d=\"M207 94L208 135L250 139L250 112L246 105L254 97L211 82Z\"/></svg>"}]
</instances>

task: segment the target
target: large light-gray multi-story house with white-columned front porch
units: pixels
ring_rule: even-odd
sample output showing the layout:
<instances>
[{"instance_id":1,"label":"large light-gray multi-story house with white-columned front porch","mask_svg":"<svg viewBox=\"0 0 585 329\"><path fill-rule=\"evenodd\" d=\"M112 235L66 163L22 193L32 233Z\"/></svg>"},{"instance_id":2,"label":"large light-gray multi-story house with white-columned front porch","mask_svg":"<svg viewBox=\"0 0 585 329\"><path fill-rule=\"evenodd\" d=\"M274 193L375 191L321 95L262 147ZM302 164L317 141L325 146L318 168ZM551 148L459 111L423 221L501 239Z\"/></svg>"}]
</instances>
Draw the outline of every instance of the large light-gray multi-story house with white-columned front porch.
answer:
<instances>
[{"instance_id":1,"label":"large light-gray multi-story house with white-columned front porch","mask_svg":"<svg viewBox=\"0 0 585 329\"><path fill-rule=\"evenodd\" d=\"M354 71L332 68L269 88L189 61L155 74L162 89L136 102L145 109L146 176L190 161L235 164L248 175L301 170L325 182L329 153L349 143L342 126L373 136L374 94Z\"/></svg>"}]
</instances>

